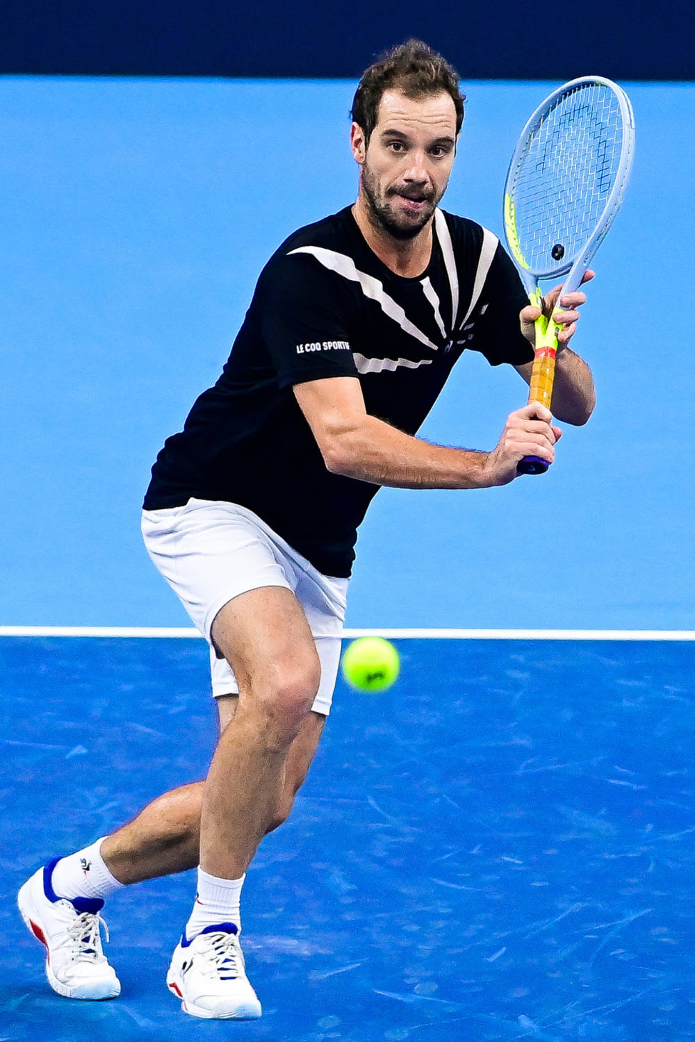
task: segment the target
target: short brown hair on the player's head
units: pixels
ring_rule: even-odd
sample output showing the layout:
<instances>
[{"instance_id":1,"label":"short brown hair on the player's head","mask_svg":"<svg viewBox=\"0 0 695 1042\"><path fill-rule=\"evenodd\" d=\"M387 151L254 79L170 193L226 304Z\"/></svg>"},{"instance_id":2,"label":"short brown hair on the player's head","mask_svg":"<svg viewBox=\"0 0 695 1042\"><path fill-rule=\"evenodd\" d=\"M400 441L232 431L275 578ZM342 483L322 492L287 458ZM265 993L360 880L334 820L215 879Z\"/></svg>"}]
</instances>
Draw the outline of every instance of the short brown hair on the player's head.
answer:
<instances>
[{"instance_id":1,"label":"short brown hair on the player's head","mask_svg":"<svg viewBox=\"0 0 695 1042\"><path fill-rule=\"evenodd\" d=\"M377 123L381 96L390 90L417 99L446 92L456 109L456 133L461 130L466 95L461 93L458 73L422 40L407 40L386 51L363 73L350 116L362 127L367 143Z\"/></svg>"}]
</instances>

